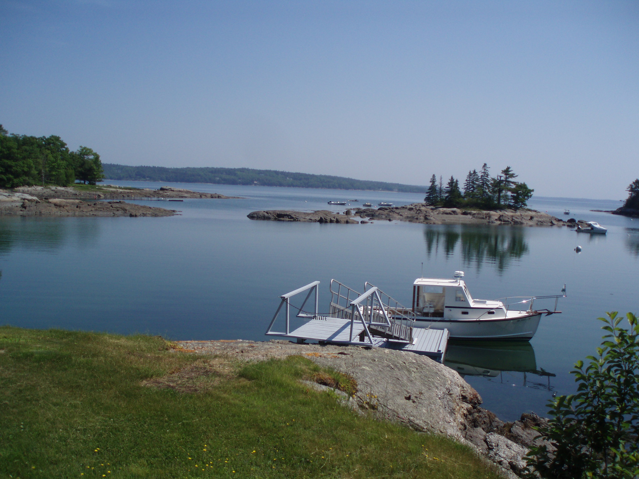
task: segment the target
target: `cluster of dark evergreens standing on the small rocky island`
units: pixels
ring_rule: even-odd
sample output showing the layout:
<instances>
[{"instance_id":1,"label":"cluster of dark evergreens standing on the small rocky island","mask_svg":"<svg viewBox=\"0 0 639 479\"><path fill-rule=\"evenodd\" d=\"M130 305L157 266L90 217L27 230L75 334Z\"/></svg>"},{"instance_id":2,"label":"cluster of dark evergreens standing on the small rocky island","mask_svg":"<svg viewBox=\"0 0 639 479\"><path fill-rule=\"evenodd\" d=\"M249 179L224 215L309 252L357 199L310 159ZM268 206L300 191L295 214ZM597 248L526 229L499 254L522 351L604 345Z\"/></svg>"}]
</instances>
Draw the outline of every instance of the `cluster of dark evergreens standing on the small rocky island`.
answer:
<instances>
[{"instance_id":1,"label":"cluster of dark evergreens standing on the small rocky island","mask_svg":"<svg viewBox=\"0 0 639 479\"><path fill-rule=\"evenodd\" d=\"M491 177L489 167L484 163L479 172L475 169L468 172L462 192L459 180L452 175L443 185L442 176L438 181L433 174L424 202L447 208L525 208L534 190L528 188L526 183L515 181L517 177L509 166Z\"/></svg>"}]
</instances>

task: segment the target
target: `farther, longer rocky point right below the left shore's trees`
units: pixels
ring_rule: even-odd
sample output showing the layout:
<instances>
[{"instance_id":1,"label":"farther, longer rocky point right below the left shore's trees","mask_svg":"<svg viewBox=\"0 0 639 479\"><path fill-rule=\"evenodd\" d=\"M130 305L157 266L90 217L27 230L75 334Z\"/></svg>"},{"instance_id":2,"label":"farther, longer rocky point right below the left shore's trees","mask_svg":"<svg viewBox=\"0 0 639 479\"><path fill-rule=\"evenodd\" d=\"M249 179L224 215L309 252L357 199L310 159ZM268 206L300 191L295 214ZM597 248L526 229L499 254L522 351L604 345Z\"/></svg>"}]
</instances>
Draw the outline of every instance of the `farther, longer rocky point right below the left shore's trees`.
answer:
<instances>
[{"instance_id":1,"label":"farther, longer rocky point right below the left shore's trees","mask_svg":"<svg viewBox=\"0 0 639 479\"><path fill-rule=\"evenodd\" d=\"M134 198L208 198L230 199L237 196L224 196L218 193L201 193L173 186L162 186L158 190L150 188L126 188L123 186L100 185L92 190L81 190L66 186L19 186L15 192L29 194L40 199L134 199Z\"/></svg>"}]
</instances>

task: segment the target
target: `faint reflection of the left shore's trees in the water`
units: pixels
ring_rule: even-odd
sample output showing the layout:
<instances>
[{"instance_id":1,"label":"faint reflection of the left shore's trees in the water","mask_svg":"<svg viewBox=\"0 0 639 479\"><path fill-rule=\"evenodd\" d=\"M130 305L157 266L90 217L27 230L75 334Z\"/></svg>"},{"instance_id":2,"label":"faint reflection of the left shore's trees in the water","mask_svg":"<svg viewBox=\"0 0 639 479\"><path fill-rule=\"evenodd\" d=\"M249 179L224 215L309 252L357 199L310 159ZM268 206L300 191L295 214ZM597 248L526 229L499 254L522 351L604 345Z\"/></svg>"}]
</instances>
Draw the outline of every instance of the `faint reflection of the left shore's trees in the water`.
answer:
<instances>
[{"instance_id":1,"label":"faint reflection of the left shore's trees in the water","mask_svg":"<svg viewBox=\"0 0 639 479\"><path fill-rule=\"evenodd\" d=\"M93 247L99 236L98 218L2 218L0 255L15 248L52 253L67 243Z\"/></svg>"}]
</instances>

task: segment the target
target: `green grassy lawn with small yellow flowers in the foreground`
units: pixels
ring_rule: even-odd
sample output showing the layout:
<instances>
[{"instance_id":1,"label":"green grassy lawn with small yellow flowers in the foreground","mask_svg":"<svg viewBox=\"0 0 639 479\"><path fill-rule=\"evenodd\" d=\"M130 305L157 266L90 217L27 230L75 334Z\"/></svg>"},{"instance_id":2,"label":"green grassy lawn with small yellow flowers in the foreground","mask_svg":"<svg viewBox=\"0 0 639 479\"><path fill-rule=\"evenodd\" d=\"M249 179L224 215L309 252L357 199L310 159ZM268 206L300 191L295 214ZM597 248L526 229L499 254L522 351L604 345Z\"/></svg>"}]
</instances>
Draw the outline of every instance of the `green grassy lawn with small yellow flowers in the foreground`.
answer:
<instances>
[{"instance_id":1,"label":"green grassy lawn with small yellow flowers in the foreground","mask_svg":"<svg viewBox=\"0 0 639 479\"><path fill-rule=\"evenodd\" d=\"M350 383L305 358L241 365L170 346L0 327L0 477L498 477L465 446L309 391L298 379Z\"/></svg>"}]
</instances>

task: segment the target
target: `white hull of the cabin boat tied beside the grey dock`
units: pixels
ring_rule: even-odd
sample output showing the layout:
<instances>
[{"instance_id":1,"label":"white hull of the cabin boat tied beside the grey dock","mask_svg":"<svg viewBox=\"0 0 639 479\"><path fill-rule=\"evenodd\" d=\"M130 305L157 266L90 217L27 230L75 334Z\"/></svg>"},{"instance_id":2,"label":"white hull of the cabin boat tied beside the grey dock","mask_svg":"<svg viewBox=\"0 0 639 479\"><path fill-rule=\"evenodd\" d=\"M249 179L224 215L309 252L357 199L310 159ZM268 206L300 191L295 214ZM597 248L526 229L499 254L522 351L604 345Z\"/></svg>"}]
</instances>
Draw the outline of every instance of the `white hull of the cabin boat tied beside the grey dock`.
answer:
<instances>
[{"instance_id":1,"label":"white hull of the cabin boat tied beside the grey dock","mask_svg":"<svg viewBox=\"0 0 639 479\"><path fill-rule=\"evenodd\" d=\"M446 319L418 317L413 327L450 331L450 338L474 340L530 340L541 313L499 319Z\"/></svg>"}]
</instances>

